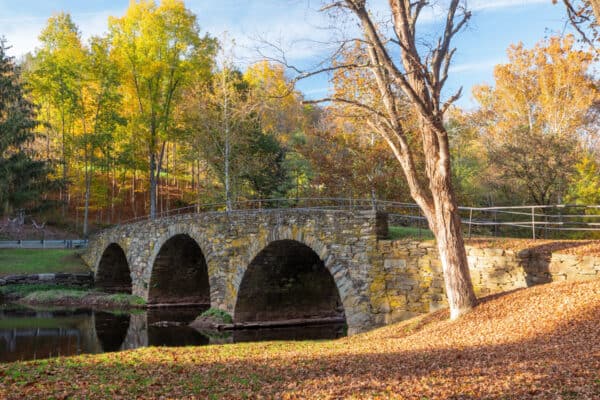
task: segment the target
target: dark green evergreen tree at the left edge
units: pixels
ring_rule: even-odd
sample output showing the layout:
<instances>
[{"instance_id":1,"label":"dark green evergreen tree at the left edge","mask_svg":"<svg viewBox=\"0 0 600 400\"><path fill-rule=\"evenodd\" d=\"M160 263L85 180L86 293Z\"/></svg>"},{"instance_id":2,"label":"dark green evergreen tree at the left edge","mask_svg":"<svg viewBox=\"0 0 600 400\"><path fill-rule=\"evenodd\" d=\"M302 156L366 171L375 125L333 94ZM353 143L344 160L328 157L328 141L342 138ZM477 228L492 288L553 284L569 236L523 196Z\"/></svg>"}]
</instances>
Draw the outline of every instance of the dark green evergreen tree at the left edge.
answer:
<instances>
[{"instance_id":1,"label":"dark green evergreen tree at the left edge","mask_svg":"<svg viewBox=\"0 0 600 400\"><path fill-rule=\"evenodd\" d=\"M44 161L35 160L35 106L7 49L0 38L0 214L34 202L48 170Z\"/></svg>"}]
</instances>

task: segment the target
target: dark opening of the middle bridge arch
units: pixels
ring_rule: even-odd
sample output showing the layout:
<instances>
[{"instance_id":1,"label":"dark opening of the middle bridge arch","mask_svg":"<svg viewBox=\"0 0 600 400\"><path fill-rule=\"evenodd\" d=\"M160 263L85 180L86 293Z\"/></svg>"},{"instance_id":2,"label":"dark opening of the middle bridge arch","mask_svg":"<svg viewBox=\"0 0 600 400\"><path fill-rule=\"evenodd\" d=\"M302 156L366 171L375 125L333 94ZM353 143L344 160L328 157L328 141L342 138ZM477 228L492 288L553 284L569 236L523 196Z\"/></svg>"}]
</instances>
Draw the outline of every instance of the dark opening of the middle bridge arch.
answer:
<instances>
[{"instance_id":1,"label":"dark opening of the middle bridge arch","mask_svg":"<svg viewBox=\"0 0 600 400\"><path fill-rule=\"evenodd\" d=\"M160 248L152 266L148 303L210 304L206 259L189 235L175 235Z\"/></svg>"}]
</instances>

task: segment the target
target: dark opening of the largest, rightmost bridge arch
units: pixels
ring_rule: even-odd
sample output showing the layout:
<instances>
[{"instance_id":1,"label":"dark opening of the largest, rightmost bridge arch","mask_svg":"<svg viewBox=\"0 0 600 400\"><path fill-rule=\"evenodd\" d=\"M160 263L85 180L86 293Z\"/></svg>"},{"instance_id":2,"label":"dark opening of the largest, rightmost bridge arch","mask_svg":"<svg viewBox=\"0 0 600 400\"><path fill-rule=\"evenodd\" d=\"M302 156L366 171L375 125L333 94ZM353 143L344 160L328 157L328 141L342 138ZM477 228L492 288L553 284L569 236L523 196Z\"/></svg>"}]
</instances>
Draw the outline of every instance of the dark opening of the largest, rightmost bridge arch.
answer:
<instances>
[{"instance_id":1,"label":"dark opening of the largest, rightmost bridge arch","mask_svg":"<svg viewBox=\"0 0 600 400\"><path fill-rule=\"evenodd\" d=\"M337 285L323 260L295 240L271 242L250 263L238 291L235 322L345 321Z\"/></svg>"}]
</instances>

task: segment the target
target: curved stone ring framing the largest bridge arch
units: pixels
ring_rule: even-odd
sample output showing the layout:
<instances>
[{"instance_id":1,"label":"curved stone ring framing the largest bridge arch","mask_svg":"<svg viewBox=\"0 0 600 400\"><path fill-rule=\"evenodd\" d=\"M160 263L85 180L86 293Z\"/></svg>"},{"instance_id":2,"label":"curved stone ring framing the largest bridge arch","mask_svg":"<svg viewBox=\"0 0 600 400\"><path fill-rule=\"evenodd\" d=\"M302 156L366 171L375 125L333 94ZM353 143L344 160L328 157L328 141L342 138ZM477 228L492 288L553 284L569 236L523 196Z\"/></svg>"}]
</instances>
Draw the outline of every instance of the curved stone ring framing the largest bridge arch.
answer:
<instances>
[{"instance_id":1,"label":"curved stone ring framing the largest bridge arch","mask_svg":"<svg viewBox=\"0 0 600 400\"><path fill-rule=\"evenodd\" d=\"M239 309L238 301L240 298L240 289L242 289L248 269L257 257L261 255L263 250L267 249L273 243L282 242L296 243L301 247L309 249L310 252L321 261L322 267L327 271L328 276L331 277L339 295L343 311L345 312L345 318L348 323L349 333L363 330L363 326L368 324L365 322L365 318L368 319L368 304L366 300L361 300L361 297L358 295L358 291L350 276L349 268L347 268L348 266L344 265L344 263L338 259L336 254L333 254L329 246L325 245L313 235L306 234L301 230L296 229L292 231L292 229L286 226L277 226L263 240L254 241L248 249L248 255L246 257L247 262L245 262L244 265L239 265L235 271L233 278L233 289L235 290L235 293L232 293L235 304L230 306L230 311L233 312L234 320L240 320L240 317L237 316L236 313ZM242 316L242 318L244 318L244 316Z\"/></svg>"}]
</instances>

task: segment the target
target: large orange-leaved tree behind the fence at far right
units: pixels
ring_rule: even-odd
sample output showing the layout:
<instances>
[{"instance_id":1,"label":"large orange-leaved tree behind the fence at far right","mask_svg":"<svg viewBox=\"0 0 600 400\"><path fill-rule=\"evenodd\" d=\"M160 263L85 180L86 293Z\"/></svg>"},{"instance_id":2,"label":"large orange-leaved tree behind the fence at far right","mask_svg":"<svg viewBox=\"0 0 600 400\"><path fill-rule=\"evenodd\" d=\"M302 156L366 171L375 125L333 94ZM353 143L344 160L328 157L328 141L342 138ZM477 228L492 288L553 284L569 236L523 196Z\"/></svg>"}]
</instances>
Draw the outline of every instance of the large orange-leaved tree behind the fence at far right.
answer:
<instances>
[{"instance_id":1,"label":"large orange-leaved tree behind the fence at far right","mask_svg":"<svg viewBox=\"0 0 600 400\"><path fill-rule=\"evenodd\" d=\"M511 46L508 58L495 68L493 88L474 89L490 173L513 191L525 188L526 201L560 202L578 160L579 132L598 96L587 75L592 56L567 37L532 50Z\"/></svg>"}]
</instances>

